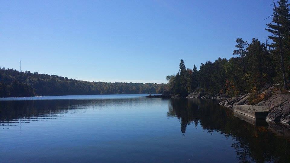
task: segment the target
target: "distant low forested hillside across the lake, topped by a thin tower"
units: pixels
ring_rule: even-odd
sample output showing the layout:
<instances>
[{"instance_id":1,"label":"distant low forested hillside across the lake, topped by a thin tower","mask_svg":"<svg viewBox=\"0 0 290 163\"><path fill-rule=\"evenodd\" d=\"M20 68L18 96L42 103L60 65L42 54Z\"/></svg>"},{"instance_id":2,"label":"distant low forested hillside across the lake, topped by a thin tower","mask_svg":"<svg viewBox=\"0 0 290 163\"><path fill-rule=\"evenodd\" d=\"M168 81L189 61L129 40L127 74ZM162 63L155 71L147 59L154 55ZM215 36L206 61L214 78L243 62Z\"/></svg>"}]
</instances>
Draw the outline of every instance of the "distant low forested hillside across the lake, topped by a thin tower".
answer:
<instances>
[{"instance_id":1,"label":"distant low forested hillside across the lake, topped by a thin tower","mask_svg":"<svg viewBox=\"0 0 290 163\"><path fill-rule=\"evenodd\" d=\"M0 97L159 93L165 86L153 83L87 82L0 68Z\"/></svg>"}]
</instances>

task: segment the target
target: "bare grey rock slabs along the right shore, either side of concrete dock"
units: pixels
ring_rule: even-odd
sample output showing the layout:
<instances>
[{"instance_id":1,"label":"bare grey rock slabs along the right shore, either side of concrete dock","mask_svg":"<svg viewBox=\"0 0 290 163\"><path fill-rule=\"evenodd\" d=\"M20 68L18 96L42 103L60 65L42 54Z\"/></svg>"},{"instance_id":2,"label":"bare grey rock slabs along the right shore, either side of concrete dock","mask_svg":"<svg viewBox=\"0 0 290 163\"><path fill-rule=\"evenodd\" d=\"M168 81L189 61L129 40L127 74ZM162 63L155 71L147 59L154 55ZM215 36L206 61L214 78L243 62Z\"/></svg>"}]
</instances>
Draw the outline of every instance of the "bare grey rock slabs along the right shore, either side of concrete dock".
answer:
<instances>
[{"instance_id":1,"label":"bare grey rock slabs along the right shore, either side of concrete dock","mask_svg":"<svg viewBox=\"0 0 290 163\"><path fill-rule=\"evenodd\" d=\"M290 94L288 92L281 92L280 90L277 90L275 86L264 88L261 92L265 98L263 101L255 105L270 108L270 112L266 117L266 120L290 124ZM196 91L189 94L186 98L220 99L223 100L219 103L220 105L233 107L234 105L250 105L248 101L249 97L250 93L230 98L225 94L213 95Z\"/></svg>"}]
</instances>

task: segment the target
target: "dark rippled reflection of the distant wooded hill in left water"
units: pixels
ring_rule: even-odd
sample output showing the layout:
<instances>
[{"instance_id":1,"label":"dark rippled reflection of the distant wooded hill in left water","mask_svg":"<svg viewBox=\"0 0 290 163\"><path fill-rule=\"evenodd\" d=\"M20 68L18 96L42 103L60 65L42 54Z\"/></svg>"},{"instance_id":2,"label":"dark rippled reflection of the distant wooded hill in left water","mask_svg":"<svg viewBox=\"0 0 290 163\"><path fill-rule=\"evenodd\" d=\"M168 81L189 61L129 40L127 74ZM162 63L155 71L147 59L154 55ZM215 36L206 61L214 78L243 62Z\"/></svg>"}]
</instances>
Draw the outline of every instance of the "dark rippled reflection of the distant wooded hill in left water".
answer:
<instances>
[{"instance_id":1,"label":"dark rippled reflection of the distant wooded hill in left water","mask_svg":"<svg viewBox=\"0 0 290 163\"><path fill-rule=\"evenodd\" d=\"M35 100L0 101L0 124L15 123L37 117L53 117L81 108L103 108L116 105L131 106L134 101L145 103L146 98L91 99L91 100Z\"/></svg>"}]
</instances>

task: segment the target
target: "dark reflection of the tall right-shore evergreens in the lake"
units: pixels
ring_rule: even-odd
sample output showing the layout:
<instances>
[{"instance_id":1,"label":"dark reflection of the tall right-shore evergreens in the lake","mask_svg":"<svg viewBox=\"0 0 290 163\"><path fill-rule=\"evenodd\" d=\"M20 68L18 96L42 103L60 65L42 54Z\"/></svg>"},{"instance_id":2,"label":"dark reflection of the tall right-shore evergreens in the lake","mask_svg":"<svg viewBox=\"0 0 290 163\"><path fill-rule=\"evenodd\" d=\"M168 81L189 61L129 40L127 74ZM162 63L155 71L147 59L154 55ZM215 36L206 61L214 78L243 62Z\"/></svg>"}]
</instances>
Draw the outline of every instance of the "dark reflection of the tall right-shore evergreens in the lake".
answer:
<instances>
[{"instance_id":1,"label":"dark reflection of the tall right-shore evergreens in the lake","mask_svg":"<svg viewBox=\"0 0 290 163\"><path fill-rule=\"evenodd\" d=\"M237 141L236 149L239 161L279 161L290 160L289 139L274 135L269 126L254 126L233 116L233 111L222 107L211 99L171 99L167 116L177 117L181 123L181 132L186 126L198 122L209 132L218 131L232 136Z\"/></svg>"}]
</instances>

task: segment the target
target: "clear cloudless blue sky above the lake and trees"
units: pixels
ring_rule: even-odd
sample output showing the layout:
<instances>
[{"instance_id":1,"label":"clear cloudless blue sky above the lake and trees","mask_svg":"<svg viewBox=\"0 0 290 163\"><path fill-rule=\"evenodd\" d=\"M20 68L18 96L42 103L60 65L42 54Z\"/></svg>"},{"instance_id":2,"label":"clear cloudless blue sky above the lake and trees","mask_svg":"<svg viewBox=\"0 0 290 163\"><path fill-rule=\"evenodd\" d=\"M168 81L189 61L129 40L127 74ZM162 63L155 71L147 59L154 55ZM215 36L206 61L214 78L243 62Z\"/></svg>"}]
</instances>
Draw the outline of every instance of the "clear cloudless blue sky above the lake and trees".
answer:
<instances>
[{"instance_id":1,"label":"clear cloudless blue sky above the lake and trees","mask_svg":"<svg viewBox=\"0 0 290 163\"><path fill-rule=\"evenodd\" d=\"M271 0L1 1L0 67L87 81L166 82L179 61L232 56L261 42Z\"/></svg>"}]
</instances>

